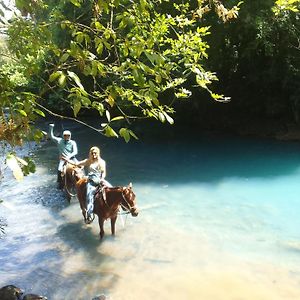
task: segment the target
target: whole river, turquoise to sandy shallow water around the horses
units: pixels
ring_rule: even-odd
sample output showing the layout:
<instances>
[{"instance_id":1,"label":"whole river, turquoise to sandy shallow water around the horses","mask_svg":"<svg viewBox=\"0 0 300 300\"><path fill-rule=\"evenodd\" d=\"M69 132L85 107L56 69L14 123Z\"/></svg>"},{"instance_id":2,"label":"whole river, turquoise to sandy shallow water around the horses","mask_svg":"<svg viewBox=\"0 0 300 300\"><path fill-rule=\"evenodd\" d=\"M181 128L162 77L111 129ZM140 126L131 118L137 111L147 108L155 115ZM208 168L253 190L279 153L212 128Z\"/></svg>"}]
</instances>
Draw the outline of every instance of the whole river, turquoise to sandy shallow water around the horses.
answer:
<instances>
[{"instance_id":1,"label":"whole river, turquoise to sandy shallow water around the horses","mask_svg":"<svg viewBox=\"0 0 300 300\"><path fill-rule=\"evenodd\" d=\"M74 129L74 128L71 128ZM55 189L56 148L37 172L0 186L0 285L52 300L300 299L300 144L234 137L154 137L99 145L114 185L133 182L140 214L99 242L76 198Z\"/></svg>"}]
</instances>

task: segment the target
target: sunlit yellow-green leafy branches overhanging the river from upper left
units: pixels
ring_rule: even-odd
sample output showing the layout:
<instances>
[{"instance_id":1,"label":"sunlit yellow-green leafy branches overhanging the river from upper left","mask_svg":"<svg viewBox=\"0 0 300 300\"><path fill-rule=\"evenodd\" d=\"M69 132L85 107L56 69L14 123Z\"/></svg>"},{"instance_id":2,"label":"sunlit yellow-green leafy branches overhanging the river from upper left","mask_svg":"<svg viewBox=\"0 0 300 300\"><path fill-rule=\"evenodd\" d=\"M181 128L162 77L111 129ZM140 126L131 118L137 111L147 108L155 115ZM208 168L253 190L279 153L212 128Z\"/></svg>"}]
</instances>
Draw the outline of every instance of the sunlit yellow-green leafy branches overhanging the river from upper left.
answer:
<instances>
[{"instance_id":1,"label":"sunlit yellow-green leafy branches overhanging the river from upper left","mask_svg":"<svg viewBox=\"0 0 300 300\"><path fill-rule=\"evenodd\" d=\"M210 32L201 24L201 9L209 3L224 21L237 16L239 4L227 9L219 1L19 0L29 17L11 22L9 47L36 96L33 104L49 108L55 102L77 118L84 110L100 117L109 112L114 118L99 131L118 137L124 126L119 117L173 124L174 99L164 94L190 97L190 80L213 99L227 100L210 90L217 77L203 66ZM120 134L126 141L134 137L126 132Z\"/></svg>"}]
</instances>

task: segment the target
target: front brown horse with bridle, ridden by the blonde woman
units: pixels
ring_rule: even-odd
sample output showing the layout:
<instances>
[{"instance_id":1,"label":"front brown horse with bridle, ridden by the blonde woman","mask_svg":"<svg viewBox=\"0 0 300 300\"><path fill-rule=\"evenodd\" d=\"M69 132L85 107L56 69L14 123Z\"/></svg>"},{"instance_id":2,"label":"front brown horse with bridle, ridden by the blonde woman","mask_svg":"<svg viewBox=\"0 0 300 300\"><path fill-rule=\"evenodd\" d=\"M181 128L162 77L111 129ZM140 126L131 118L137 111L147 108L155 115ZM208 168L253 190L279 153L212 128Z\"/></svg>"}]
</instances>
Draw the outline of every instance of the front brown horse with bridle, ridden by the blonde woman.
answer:
<instances>
[{"instance_id":1,"label":"front brown horse with bridle, ridden by the blonde woman","mask_svg":"<svg viewBox=\"0 0 300 300\"><path fill-rule=\"evenodd\" d=\"M76 183L77 198L80 203L80 208L85 223L86 219L86 183L87 179L82 178ZM126 187L104 187L103 193L99 187L94 197L94 211L93 213L98 216L100 227L100 239L104 236L104 221L110 219L111 234L115 235L115 225L118 217L120 207L130 213L133 217L138 215L138 209L135 202L135 194L132 190L130 183ZM103 196L103 194L105 196Z\"/></svg>"}]
</instances>

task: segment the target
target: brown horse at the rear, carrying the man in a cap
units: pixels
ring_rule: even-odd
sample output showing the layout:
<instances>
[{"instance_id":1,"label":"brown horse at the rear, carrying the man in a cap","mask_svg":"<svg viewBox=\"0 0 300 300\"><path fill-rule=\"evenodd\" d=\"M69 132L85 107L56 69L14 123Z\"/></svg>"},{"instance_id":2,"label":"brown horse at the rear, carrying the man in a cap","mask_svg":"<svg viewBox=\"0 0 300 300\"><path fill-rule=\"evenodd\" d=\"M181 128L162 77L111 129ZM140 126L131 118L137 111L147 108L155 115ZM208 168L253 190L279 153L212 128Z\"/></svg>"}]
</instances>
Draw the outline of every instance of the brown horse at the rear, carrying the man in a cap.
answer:
<instances>
[{"instance_id":1,"label":"brown horse at the rear, carrying the man in a cap","mask_svg":"<svg viewBox=\"0 0 300 300\"><path fill-rule=\"evenodd\" d=\"M62 172L63 189L66 192L67 199L70 202L71 197L76 196L76 182L83 178L84 171L82 168L73 164L66 163Z\"/></svg>"}]
</instances>

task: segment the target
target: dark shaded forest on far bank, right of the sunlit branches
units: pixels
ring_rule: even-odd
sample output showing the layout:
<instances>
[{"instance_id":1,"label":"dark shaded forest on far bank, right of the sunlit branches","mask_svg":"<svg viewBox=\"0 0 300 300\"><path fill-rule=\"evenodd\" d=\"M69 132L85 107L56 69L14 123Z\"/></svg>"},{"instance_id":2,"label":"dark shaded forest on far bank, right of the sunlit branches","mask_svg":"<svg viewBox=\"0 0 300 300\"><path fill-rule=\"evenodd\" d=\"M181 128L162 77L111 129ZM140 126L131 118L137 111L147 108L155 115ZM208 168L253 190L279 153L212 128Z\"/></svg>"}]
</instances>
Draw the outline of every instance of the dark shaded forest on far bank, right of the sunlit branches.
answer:
<instances>
[{"instance_id":1,"label":"dark shaded forest on far bank, right of the sunlit branches","mask_svg":"<svg viewBox=\"0 0 300 300\"><path fill-rule=\"evenodd\" d=\"M272 0L244 1L239 17L226 24L214 15L205 18L211 25L206 67L216 72L218 90L231 101L220 105L200 93L180 106L187 120L199 127L266 135L298 123L299 2L293 1L298 6L292 10L278 10L287 8L280 2L274 7Z\"/></svg>"}]
</instances>

